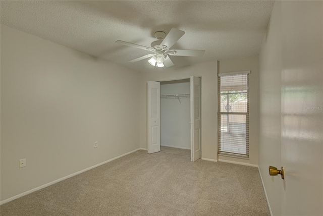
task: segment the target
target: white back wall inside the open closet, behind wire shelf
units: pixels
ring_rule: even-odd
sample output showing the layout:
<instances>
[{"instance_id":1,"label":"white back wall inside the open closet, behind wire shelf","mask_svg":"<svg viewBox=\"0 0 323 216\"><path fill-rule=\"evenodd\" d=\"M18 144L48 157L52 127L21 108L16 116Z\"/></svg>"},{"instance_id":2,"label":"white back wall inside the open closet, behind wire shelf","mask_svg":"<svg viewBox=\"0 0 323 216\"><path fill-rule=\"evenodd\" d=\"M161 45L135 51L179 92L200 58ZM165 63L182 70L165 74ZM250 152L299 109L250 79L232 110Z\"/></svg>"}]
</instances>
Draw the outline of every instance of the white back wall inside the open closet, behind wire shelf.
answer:
<instances>
[{"instance_id":1,"label":"white back wall inside the open closet, behind wire shelf","mask_svg":"<svg viewBox=\"0 0 323 216\"><path fill-rule=\"evenodd\" d=\"M189 93L189 80L160 83L160 95ZM160 99L160 145L191 149L190 121L190 97Z\"/></svg>"}]
</instances>

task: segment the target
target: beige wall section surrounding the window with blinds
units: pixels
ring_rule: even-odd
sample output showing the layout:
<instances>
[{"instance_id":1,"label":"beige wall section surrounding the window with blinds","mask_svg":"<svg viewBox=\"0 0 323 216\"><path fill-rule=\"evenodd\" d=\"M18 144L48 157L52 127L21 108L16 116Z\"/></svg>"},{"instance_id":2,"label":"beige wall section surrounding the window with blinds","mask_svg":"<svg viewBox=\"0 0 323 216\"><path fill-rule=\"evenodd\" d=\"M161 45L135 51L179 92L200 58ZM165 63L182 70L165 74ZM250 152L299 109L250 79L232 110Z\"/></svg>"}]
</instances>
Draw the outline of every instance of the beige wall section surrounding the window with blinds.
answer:
<instances>
[{"instance_id":1,"label":"beige wall section surrounding the window with blinds","mask_svg":"<svg viewBox=\"0 0 323 216\"><path fill-rule=\"evenodd\" d=\"M251 71L249 75L249 159L219 156L219 159L258 165L258 57L220 61L220 73Z\"/></svg>"}]
</instances>

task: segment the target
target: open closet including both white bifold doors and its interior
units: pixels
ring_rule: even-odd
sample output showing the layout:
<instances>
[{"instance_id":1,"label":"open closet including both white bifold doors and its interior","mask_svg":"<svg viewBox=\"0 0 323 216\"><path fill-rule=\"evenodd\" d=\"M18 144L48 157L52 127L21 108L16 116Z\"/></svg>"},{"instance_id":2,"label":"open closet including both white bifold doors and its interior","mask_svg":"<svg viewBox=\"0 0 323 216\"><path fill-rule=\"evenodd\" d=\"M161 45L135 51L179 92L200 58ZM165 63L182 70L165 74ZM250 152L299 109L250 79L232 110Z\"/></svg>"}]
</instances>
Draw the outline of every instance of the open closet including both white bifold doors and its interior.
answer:
<instances>
[{"instance_id":1,"label":"open closet including both white bifold doors and its interior","mask_svg":"<svg viewBox=\"0 0 323 216\"><path fill-rule=\"evenodd\" d=\"M201 83L194 76L147 81L148 154L161 151L161 146L185 150L191 161L201 158Z\"/></svg>"}]
</instances>

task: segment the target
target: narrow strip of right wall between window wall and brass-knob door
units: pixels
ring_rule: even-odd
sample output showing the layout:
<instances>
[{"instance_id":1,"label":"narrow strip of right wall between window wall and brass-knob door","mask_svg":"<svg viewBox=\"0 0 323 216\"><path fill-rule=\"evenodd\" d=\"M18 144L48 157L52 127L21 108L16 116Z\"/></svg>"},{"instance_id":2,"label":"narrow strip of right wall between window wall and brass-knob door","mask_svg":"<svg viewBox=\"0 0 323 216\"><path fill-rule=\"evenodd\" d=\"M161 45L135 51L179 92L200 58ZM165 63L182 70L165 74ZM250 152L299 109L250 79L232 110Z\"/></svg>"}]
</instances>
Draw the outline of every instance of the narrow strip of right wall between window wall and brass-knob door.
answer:
<instances>
[{"instance_id":1,"label":"narrow strip of right wall between window wall and brass-knob door","mask_svg":"<svg viewBox=\"0 0 323 216\"><path fill-rule=\"evenodd\" d=\"M275 2L259 55L259 170L273 215L281 214L281 180L268 166L281 167L281 2Z\"/></svg>"}]
</instances>

